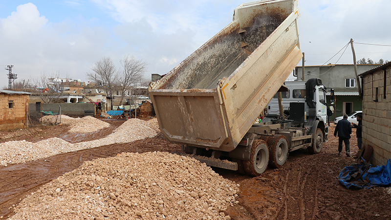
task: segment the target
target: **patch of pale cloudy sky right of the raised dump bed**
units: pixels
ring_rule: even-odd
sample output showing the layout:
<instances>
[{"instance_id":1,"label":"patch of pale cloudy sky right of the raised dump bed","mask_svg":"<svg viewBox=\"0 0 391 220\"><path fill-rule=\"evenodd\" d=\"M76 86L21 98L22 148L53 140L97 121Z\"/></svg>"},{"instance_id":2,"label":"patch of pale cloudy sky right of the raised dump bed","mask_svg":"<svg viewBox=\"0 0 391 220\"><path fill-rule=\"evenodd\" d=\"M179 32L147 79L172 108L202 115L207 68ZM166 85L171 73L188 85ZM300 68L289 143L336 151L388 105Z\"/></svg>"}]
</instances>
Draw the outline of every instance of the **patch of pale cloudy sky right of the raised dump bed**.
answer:
<instances>
[{"instance_id":1,"label":"patch of pale cloudy sky right of the raised dump bed","mask_svg":"<svg viewBox=\"0 0 391 220\"><path fill-rule=\"evenodd\" d=\"M391 44L391 30L384 27L391 19L387 0L299 0L300 44L305 52L305 65L322 65L343 48L350 38L355 42L368 44ZM309 43L311 42L311 43ZM390 60L390 47L364 46L354 44L357 58L370 57ZM341 52L342 53L342 52ZM350 46L345 54L335 56L327 63L352 64ZM299 63L301 66L301 63Z\"/></svg>"}]
</instances>

